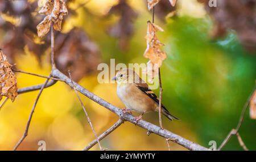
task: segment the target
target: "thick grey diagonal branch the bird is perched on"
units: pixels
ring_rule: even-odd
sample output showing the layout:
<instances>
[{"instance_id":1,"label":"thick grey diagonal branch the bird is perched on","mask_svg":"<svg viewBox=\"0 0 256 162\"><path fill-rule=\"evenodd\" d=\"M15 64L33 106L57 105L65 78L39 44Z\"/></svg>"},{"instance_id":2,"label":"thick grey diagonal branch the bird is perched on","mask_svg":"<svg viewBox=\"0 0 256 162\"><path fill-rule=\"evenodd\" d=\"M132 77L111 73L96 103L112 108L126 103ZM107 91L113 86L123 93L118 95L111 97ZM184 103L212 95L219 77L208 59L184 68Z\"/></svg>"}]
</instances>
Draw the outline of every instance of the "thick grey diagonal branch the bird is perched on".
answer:
<instances>
[{"instance_id":1,"label":"thick grey diagonal branch the bird is perched on","mask_svg":"<svg viewBox=\"0 0 256 162\"><path fill-rule=\"evenodd\" d=\"M181 146L187 148L188 150L201 150L201 151L209 150L208 148L205 148L203 146L200 146L199 144L191 142L188 139L185 139L183 137L180 137L179 135L171 133L170 131L168 131L166 129L161 129L159 126L156 126L150 122L147 122L144 120L137 121L133 115L124 114L121 109L108 103L107 101L101 99L100 97L94 95L94 93L88 91L87 89L80 86L76 82L73 82L73 84L72 84L71 80L68 78L68 76L64 75L57 69L52 70L52 76L64 80L64 82L67 83L71 87L74 86L77 89L77 91L81 92L83 95L85 95L89 99L95 101L96 103L104 106L106 109L110 110L111 112L117 114L117 116L119 116L119 118L121 118L123 121L129 121L131 123L138 125L139 127L142 127L143 129L146 129L147 131L150 131L151 133L155 133L161 137L170 139L172 142L180 144Z\"/></svg>"}]
</instances>

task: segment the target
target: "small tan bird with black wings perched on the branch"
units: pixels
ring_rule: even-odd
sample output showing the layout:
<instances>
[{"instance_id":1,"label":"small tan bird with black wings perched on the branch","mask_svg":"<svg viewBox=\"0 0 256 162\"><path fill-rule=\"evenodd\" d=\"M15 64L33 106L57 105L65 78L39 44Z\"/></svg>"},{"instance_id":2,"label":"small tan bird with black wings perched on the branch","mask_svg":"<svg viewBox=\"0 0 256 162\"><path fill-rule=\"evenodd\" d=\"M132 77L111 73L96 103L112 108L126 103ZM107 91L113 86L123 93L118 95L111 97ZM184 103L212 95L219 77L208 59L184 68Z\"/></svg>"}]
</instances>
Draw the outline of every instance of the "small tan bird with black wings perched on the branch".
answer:
<instances>
[{"instance_id":1,"label":"small tan bird with black wings perched on the branch","mask_svg":"<svg viewBox=\"0 0 256 162\"><path fill-rule=\"evenodd\" d=\"M142 119L144 113L155 111L158 112L159 99L148 87L147 83L142 80L135 71L131 69L122 69L117 72L112 80L117 81L117 95L125 104L124 113L131 113L131 110L141 113L136 117L136 121ZM179 118L173 116L162 104L162 113L171 121Z\"/></svg>"}]
</instances>

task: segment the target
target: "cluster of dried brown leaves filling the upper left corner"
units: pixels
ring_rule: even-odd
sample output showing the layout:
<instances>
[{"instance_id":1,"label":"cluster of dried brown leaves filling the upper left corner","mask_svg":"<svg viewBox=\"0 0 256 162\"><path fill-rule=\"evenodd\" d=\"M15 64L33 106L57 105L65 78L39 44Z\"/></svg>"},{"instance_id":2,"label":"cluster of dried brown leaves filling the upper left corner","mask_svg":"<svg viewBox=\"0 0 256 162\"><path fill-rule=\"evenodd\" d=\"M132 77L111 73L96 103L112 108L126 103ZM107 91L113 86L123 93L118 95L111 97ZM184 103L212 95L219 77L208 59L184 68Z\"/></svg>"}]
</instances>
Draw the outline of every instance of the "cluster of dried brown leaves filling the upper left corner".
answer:
<instances>
[{"instance_id":1,"label":"cluster of dried brown leaves filling the upper left corner","mask_svg":"<svg viewBox=\"0 0 256 162\"><path fill-rule=\"evenodd\" d=\"M63 10L65 7L62 2L63 1L59 1L59 5L57 5L57 1L56 3L53 3L53 0L48 1L46 6L40 10L41 13L45 13L46 15L42 21L42 16L38 14L39 9L37 1L0 1L1 13L6 14L11 18L20 19L20 23L14 25L5 19L1 19L0 16L0 32L3 33L3 38L0 40L0 44L2 45L1 48L6 56L9 58L10 63L14 63L15 56L24 53L23 50L25 46L28 47L30 52L35 54L39 62L41 61L41 57L47 51L51 42L51 37L49 35L46 35L43 38L39 37L41 35L43 36L43 33L47 33L49 25L51 25L50 23L47 23L47 25L42 24L43 22L48 22L51 18L53 24L55 24L55 29L61 29L61 20L63 19L64 13L67 13ZM67 3L72 3L72 1L67 1ZM54 7L54 5L56 5L56 7ZM49 6L48 9L46 9L47 6ZM64 18L76 15L75 10L71 10L71 8L68 8L68 10L69 14ZM59 14L57 11L59 11ZM56 16L51 17L51 14L53 13ZM43 31L39 32L38 36L36 25L39 23L45 28ZM75 44L74 42L76 42L76 45L67 45L67 42L65 41L72 42L72 44ZM92 44L92 46L89 44ZM74 51L73 48L75 47L77 50L71 52ZM97 70L97 63L100 62L100 50L98 50L98 46L95 42L90 40L89 37L86 36L85 31L80 28L74 28L67 34L55 32L55 50L55 62L57 68L63 73L72 69L72 76L76 81L85 75L95 72ZM65 50L71 53L67 54ZM79 66L81 66L81 68L79 68Z\"/></svg>"}]
</instances>

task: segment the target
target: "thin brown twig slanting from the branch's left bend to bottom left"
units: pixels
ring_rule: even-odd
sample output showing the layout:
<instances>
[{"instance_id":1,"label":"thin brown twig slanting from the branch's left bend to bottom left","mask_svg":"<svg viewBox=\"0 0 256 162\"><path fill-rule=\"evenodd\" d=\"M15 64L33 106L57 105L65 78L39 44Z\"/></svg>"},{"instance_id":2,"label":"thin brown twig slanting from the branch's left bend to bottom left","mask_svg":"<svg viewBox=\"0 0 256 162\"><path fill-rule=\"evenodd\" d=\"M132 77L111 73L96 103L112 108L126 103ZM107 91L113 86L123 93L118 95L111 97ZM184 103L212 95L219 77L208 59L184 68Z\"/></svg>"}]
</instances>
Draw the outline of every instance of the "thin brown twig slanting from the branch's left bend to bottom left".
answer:
<instances>
[{"instance_id":1,"label":"thin brown twig slanting from the branch's left bend to bottom left","mask_svg":"<svg viewBox=\"0 0 256 162\"><path fill-rule=\"evenodd\" d=\"M49 76L51 76L51 75L49 75ZM23 134L22 138L20 138L20 140L18 141L18 143L16 144L16 146L13 148L14 151L19 147L19 145L20 145L20 144L23 142L23 140L27 137L28 129L29 129L29 127L30 127L30 123L31 123L32 116L33 116L34 111L35 111L36 104L38 103L39 97L40 97L40 95L42 94L44 87L46 87L46 84L48 83L48 81L49 81L49 79L47 78L47 79L46 79L46 82L44 82L43 86L41 87L40 92L38 93L38 96L36 97L35 103L34 103L32 109L31 109L31 112L30 112L30 117L28 118L28 121L27 121L27 126L26 126L26 129L25 129L25 131L24 131L24 134Z\"/></svg>"}]
</instances>

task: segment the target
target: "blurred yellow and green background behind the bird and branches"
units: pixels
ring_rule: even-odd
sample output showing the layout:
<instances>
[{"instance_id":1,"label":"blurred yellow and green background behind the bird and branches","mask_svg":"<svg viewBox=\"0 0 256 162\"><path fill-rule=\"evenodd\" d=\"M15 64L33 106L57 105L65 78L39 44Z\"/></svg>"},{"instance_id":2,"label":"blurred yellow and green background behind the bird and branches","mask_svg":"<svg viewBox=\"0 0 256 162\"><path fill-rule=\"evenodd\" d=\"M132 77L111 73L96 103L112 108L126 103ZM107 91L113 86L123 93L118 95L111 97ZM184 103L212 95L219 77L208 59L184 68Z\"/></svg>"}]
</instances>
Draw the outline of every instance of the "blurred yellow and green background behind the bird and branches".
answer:
<instances>
[{"instance_id":1,"label":"blurred yellow and green background behind the bird and branches","mask_svg":"<svg viewBox=\"0 0 256 162\"><path fill-rule=\"evenodd\" d=\"M118 39L106 33L106 27L113 24L117 16L105 18L104 15L115 3L117 1L88 2L85 8L77 10L76 16L65 20L63 32L68 32L72 27L84 29L90 39L97 43L102 63L110 63L111 58L115 59L115 63L146 63L147 59L143 57L146 49L144 36L146 22L151 19L146 3L129 1L138 12L138 18L135 19L134 35L126 50L121 50ZM158 18L155 22L164 29L158 36L165 44L163 50L167 53L161 67L163 104L181 119L170 122L163 117L163 125L173 133L205 147L210 147L209 141L215 140L218 147L229 131L236 127L243 105L253 90L256 53L243 49L235 31L230 30L228 36L222 39L210 39L213 22L203 5L192 0L189 0L188 6L183 5L184 1L178 1L177 16L167 18L166 23ZM95 19L88 10L102 19ZM47 75L50 71L49 53L44 54L42 65L39 65L35 56L24 49L24 54L15 58L17 69ZM97 83L99 72L85 76L79 83L110 103L124 108L115 94L115 84ZM26 74L17 74L17 78L19 88L44 82L44 79ZM158 93L157 90L155 92ZM0 150L12 149L22 136L37 93L19 95L14 103L7 101L1 109ZM97 134L118 120L108 110L81 97ZM158 124L157 113L145 114L143 119ZM146 133L146 130L125 122L101 144L109 150L167 150L163 138L154 134L148 137ZM249 150L256 150L256 124L255 120L250 119L248 110L240 135ZM60 82L43 92L28 137L19 149L37 150L38 141L45 140L47 150L81 150L93 139L75 92ZM171 143L171 148L185 150L175 143ZM98 150L98 146L94 146L93 150ZM237 138L233 137L224 150L242 148Z\"/></svg>"}]
</instances>

